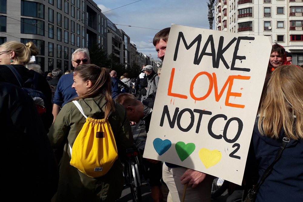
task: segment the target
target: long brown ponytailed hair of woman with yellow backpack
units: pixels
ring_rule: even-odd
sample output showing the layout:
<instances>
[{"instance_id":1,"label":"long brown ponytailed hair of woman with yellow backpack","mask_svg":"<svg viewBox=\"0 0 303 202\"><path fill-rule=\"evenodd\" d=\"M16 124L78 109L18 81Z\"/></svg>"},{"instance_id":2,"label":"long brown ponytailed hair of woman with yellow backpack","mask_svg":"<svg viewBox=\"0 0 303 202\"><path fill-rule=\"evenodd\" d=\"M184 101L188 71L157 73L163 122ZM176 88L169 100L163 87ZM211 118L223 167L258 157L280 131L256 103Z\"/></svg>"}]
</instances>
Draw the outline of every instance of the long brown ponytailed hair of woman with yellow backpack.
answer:
<instances>
[{"instance_id":1,"label":"long brown ponytailed hair of woman with yellow backpack","mask_svg":"<svg viewBox=\"0 0 303 202\"><path fill-rule=\"evenodd\" d=\"M83 81L90 80L93 84L84 95L72 99L79 100L85 98L93 98L97 95L102 94L100 98L105 96L106 106L105 106L105 118L106 121L109 114L114 111L114 104L112 100L112 88L111 88L111 77L106 68L98 67L97 65L79 65L75 68L74 75L79 75Z\"/></svg>"}]
</instances>

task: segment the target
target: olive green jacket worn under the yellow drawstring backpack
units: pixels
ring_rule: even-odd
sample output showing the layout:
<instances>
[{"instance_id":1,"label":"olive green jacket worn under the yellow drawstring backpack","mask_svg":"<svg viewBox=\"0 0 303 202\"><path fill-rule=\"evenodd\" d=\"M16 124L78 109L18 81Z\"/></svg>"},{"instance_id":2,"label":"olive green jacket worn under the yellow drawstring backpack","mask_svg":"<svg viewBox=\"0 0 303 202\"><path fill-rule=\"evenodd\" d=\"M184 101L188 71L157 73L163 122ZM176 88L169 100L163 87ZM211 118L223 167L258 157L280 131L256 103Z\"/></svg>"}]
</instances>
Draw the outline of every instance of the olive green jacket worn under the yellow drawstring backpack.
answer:
<instances>
[{"instance_id":1,"label":"olive green jacket worn under the yellow drawstring backpack","mask_svg":"<svg viewBox=\"0 0 303 202\"><path fill-rule=\"evenodd\" d=\"M98 97L96 97L98 98ZM78 101L87 117L104 118L106 100L86 98ZM108 117L115 136L117 149L123 150L133 142L131 126L125 107L114 103L115 111ZM85 117L72 102L65 104L48 133L53 148L64 144L64 151L59 163L58 192L52 201L115 201L121 196L124 185L123 166L118 158L107 174L91 178L69 164L71 147L85 123Z\"/></svg>"}]
</instances>

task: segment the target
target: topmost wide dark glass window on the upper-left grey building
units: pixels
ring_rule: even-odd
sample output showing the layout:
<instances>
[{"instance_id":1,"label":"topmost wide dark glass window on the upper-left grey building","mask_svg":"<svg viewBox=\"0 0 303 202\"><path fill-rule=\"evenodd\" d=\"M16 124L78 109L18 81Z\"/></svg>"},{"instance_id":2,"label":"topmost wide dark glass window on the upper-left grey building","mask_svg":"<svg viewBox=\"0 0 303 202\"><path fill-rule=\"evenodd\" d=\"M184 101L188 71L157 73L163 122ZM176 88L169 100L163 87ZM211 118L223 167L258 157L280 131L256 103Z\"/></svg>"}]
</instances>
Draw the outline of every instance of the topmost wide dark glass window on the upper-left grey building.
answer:
<instances>
[{"instance_id":1,"label":"topmost wide dark glass window on the upper-left grey building","mask_svg":"<svg viewBox=\"0 0 303 202\"><path fill-rule=\"evenodd\" d=\"M21 15L44 19L44 5L37 2L29 2L22 0Z\"/></svg>"}]
</instances>

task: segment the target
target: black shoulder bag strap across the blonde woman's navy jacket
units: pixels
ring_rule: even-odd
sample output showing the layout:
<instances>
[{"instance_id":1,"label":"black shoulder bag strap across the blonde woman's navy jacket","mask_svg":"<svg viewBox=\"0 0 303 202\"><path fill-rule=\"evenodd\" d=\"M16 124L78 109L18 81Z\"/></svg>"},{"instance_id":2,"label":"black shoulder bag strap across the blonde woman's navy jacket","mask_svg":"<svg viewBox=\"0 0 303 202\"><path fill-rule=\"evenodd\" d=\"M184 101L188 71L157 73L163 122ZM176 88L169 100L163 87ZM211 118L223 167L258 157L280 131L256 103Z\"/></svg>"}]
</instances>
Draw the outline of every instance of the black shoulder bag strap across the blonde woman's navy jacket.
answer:
<instances>
[{"instance_id":1,"label":"black shoulder bag strap across the blonde woman's navy jacket","mask_svg":"<svg viewBox=\"0 0 303 202\"><path fill-rule=\"evenodd\" d=\"M248 191L248 194L244 200L244 202L250 202L250 201L255 201L255 197L257 195L257 191L259 189L259 187L261 186L261 184L264 182L264 180L266 179L266 177L268 177L269 173L272 171L272 168L274 167L274 165L279 161L283 150L286 147L286 144L289 142L290 140L286 137L283 137L283 141L282 144L278 150L278 153L276 155L275 160L268 166L268 168L264 171L261 180L258 182L258 184L256 184L255 186L253 186L253 188L251 190Z\"/></svg>"}]
</instances>

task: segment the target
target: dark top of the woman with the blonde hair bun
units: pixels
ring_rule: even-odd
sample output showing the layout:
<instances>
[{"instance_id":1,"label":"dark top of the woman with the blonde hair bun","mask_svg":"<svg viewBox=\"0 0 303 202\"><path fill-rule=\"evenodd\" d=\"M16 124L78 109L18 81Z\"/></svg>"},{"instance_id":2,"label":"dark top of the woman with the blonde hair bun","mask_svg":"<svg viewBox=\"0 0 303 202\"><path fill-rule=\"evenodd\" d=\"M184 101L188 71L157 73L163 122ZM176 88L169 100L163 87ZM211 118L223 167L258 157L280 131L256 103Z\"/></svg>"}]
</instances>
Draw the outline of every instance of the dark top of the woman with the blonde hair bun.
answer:
<instances>
[{"instance_id":1,"label":"dark top of the woman with the blonde hair bun","mask_svg":"<svg viewBox=\"0 0 303 202\"><path fill-rule=\"evenodd\" d=\"M29 70L25 68L23 65L12 65L16 68L18 73L22 76L22 79L24 82L26 82L28 79L33 79L35 75L34 70ZM0 65L0 81L5 81L11 84L15 84L16 86L20 86L16 76L10 70L7 66L5 65ZM21 87L21 86L20 86ZM25 86L27 88L30 88L31 86ZM38 86L37 89L38 91L41 91L47 101L48 101L48 108L45 111L45 114L42 115L42 122L45 127L45 130L48 131L49 127L52 125L53 122L53 114L52 114L52 91L49 88L49 85L47 81L45 80L44 76L39 74L39 79L38 79Z\"/></svg>"}]
</instances>

